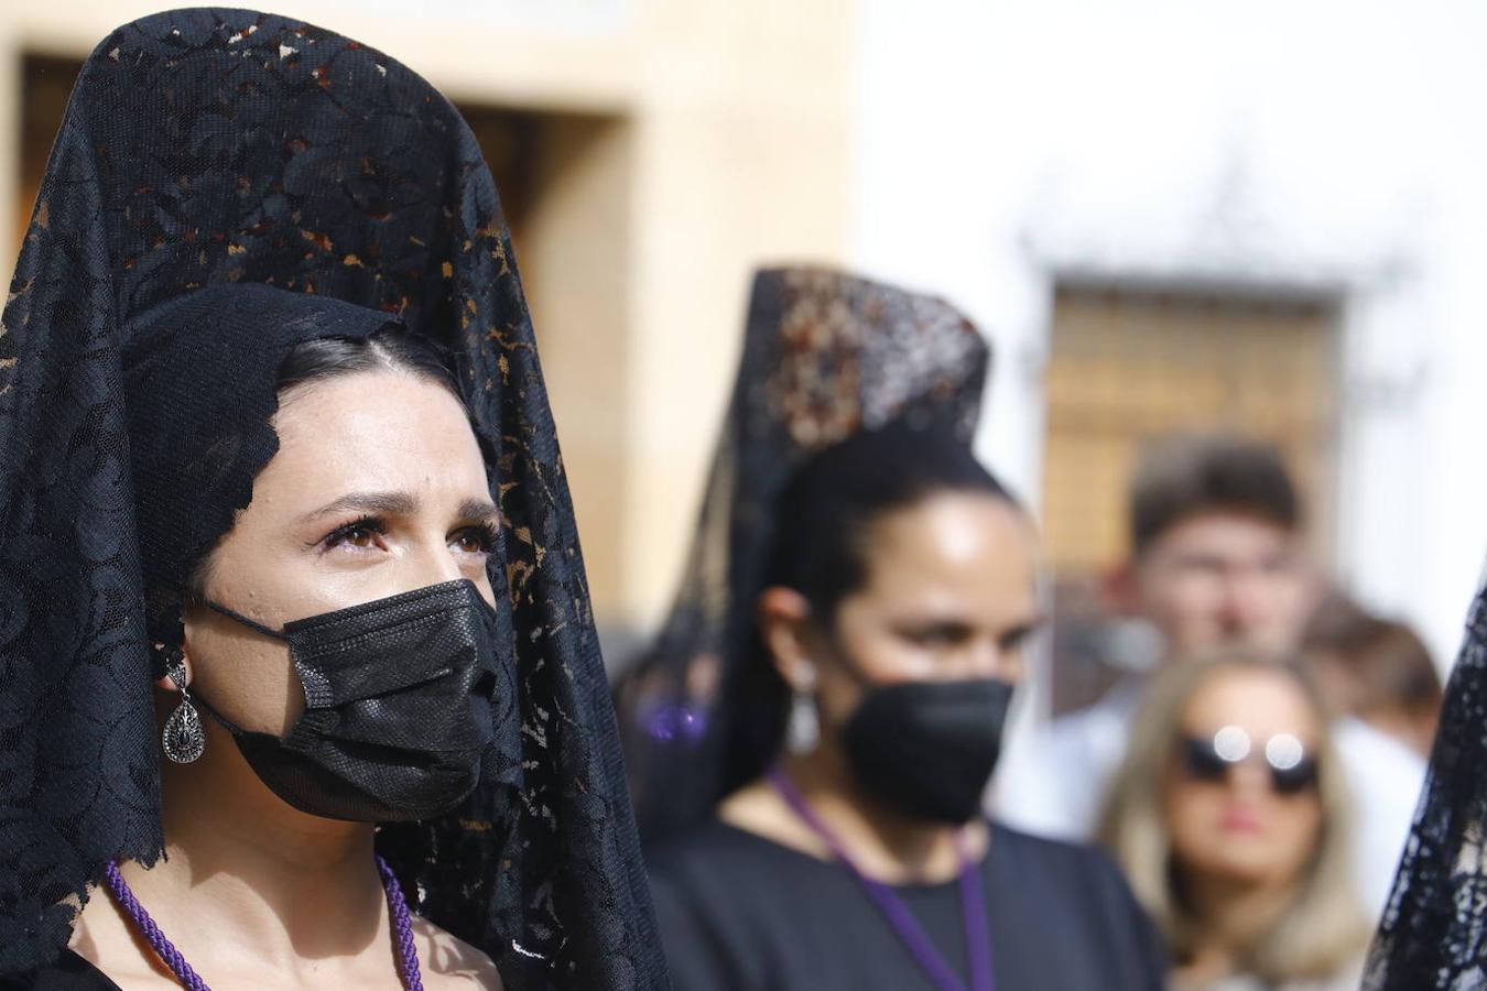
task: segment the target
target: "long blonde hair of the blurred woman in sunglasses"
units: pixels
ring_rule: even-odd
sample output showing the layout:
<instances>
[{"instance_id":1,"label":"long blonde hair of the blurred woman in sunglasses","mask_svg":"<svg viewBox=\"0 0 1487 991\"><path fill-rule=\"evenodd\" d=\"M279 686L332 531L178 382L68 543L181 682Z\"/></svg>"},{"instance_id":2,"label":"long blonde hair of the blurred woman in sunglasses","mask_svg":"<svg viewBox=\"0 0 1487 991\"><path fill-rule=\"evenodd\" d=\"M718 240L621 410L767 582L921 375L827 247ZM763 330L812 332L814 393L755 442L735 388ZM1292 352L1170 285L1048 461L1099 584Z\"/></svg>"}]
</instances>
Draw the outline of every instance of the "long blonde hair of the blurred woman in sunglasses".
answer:
<instances>
[{"instance_id":1,"label":"long blonde hair of the blurred woman in sunglasses","mask_svg":"<svg viewBox=\"0 0 1487 991\"><path fill-rule=\"evenodd\" d=\"M1239 961L1267 984L1325 979L1356 961L1370 926L1352 877L1352 801L1328 713L1313 685L1291 664L1251 654L1219 654L1175 664L1157 676L1138 715L1126 761L1100 817L1100 842L1126 871L1136 899L1161 930L1173 963L1193 957L1200 933L1175 891L1172 842L1163 822L1163 787L1188 701L1218 672L1279 672L1301 688L1323 725L1317 750L1322 832L1297 880L1289 906Z\"/></svg>"}]
</instances>

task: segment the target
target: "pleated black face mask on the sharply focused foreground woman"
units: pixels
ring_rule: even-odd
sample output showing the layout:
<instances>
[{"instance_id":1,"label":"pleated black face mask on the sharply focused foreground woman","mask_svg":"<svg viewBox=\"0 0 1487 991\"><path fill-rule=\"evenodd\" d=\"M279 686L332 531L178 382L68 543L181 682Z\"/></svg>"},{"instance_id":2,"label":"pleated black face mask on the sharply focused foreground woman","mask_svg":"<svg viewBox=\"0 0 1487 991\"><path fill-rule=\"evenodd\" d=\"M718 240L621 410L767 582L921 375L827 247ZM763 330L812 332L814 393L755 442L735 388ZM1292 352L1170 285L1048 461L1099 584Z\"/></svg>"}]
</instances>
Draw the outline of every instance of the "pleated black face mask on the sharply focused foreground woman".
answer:
<instances>
[{"instance_id":1,"label":"pleated black face mask on the sharply focused foreground woman","mask_svg":"<svg viewBox=\"0 0 1487 991\"><path fill-rule=\"evenodd\" d=\"M324 819L407 822L458 805L480 780L495 692L495 614L449 581L272 630L305 688L284 738L216 715L248 764L294 808Z\"/></svg>"}]
</instances>

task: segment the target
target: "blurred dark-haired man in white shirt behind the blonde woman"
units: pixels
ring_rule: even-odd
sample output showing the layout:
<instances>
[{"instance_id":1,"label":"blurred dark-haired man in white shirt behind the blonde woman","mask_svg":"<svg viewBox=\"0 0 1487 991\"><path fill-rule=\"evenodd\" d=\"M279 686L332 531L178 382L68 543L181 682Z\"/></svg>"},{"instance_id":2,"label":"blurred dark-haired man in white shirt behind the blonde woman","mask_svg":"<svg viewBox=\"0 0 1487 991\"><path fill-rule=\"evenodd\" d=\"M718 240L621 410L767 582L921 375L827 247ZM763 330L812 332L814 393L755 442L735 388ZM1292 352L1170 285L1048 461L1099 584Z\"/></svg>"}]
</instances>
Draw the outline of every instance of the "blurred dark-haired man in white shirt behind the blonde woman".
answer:
<instances>
[{"instance_id":1,"label":"blurred dark-haired man in white shirt behind the blonde woman","mask_svg":"<svg viewBox=\"0 0 1487 991\"><path fill-rule=\"evenodd\" d=\"M1295 487L1276 450L1230 437L1155 446L1132 486L1130 538L1112 597L1117 612L1149 624L1155 636L1146 658L1127 660L1145 661L1149 672L1230 645L1277 655L1297 649L1320 582L1306 557ZM1097 704L1036 734L1002 773L998 813L1032 832L1087 838L1145 683L1146 675L1133 672ZM1425 768L1407 747L1356 719L1341 719L1335 738L1359 808L1359 884L1377 908Z\"/></svg>"}]
</instances>

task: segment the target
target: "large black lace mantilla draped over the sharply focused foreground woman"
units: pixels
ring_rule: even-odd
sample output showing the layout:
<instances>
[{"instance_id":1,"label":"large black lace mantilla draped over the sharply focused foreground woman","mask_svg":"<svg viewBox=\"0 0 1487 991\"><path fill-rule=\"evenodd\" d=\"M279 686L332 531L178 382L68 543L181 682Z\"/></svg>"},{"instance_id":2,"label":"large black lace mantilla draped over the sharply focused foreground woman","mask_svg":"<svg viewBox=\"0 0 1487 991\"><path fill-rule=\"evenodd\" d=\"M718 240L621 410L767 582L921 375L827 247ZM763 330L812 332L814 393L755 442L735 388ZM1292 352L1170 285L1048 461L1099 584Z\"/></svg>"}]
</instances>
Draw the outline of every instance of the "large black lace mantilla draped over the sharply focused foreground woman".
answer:
<instances>
[{"instance_id":1,"label":"large black lace mantilla draped over the sharply focused foreground woman","mask_svg":"<svg viewBox=\"0 0 1487 991\"><path fill-rule=\"evenodd\" d=\"M253 321L233 308L263 322L283 311L299 337L401 321L451 354L491 453L491 578L513 645L506 752L457 813L379 832L404 890L507 987L663 988L491 174L458 113L403 65L228 9L144 18L88 59L0 327L0 973L55 960L106 862L161 853L150 633L170 631L158 617L147 628L146 575L175 538L138 517L244 504L242 465L260 468L274 441L183 452L174 481L222 492L152 502L171 458L150 423L174 409L172 376L248 389L275 367L291 342L248 357ZM198 526L216 539L230 513Z\"/></svg>"}]
</instances>

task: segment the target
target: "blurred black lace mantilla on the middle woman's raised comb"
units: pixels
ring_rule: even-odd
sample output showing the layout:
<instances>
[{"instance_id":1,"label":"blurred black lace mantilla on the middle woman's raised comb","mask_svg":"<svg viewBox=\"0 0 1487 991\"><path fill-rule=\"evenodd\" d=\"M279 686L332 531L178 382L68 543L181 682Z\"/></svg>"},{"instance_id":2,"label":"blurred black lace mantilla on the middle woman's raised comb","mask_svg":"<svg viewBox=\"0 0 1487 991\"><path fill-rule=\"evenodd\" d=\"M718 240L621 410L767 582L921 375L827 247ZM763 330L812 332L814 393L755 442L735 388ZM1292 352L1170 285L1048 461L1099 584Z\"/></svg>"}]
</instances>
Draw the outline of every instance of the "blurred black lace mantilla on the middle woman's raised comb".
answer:
<instances>
[{"instance_id":1,"label":"blurred black lace mantilla on the middle woman's raised comb","mask_svg":"<svg viewBox=\"0 0 1487 991\"><path fill-rule=\"evenodd\" d=\"M647 842L702 819L733 786L730 704L751 643L775 501L813 453L897 419L970 443L990 351L955 308L810 267L754 278L744 354L680 591L626 672L622 732Z\"/></svg>"}]
</instances>

